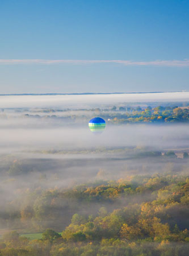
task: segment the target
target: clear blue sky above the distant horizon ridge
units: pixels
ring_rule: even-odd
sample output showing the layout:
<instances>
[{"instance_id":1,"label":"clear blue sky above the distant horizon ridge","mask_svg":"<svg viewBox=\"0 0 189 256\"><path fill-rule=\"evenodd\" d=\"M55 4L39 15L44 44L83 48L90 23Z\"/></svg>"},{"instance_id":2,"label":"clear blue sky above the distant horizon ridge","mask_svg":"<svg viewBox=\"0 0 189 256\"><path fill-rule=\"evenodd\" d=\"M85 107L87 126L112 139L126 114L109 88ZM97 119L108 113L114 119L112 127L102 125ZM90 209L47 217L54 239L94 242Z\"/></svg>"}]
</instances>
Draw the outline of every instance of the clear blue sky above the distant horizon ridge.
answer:
<instances>
[{"instance_id":1,"label":"clear blue sky above the distant horizon ridge","mask_svg":"<svg viewBox=\"0 0 189 256\"><path fill-rule=\"evenodd\" d=\"M189 90L188 13L188 0L1 0L0 93Z\"/></svg>"}]
</instances>

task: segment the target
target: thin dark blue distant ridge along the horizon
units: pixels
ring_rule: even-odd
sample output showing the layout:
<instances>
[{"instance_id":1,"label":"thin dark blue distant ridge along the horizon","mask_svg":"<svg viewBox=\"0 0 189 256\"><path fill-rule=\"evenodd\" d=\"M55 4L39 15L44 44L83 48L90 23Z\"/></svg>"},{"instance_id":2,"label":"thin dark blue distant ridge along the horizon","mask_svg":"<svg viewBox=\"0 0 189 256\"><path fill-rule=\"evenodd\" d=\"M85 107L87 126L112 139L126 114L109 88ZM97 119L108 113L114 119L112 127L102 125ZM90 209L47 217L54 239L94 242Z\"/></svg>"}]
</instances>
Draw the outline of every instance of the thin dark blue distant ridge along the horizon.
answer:
<instances>
[{"instance_id":1,"label":"thin dark blue distant ridge along the horizon","mask_svg":"<svg viewBox=\"0 0 189 256\"><path fill-rule=\"evenodd\" d=\"M180 91L178 91L180 92ZM181 91L182 92L182 91ZM184 91L186 92L186 91ZM176 92L113 92L113 93L7 93L0 96L45 96L45 95L109 95L109 94L146 94L146 93L176 93Z\"/></svg>"}]
</instances>

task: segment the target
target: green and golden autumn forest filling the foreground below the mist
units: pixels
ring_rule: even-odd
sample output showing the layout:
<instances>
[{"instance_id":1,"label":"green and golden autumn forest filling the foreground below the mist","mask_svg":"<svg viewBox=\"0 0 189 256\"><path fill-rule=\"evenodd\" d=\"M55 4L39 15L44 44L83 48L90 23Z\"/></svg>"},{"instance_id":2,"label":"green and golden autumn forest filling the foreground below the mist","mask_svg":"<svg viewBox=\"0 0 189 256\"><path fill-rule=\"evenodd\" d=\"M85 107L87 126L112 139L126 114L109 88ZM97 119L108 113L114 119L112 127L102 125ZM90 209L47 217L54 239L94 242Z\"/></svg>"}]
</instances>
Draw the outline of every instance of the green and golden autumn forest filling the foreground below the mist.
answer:
<instances>
[{"instance_id":1,"label":"green and golden autumn forest filling the foreground below the mist","mask_svg":"<svg viewBox=\"0 0 189 256\"><path fill-rule=\"evenodd\" d=\"M26 193L17 218L26 232L33 225L44 230L43 237L30 241L19 232L6 233L2 256L188 255L189 177L184 173ZM70 224L58 234L70 214Z\"/></svg>"}]
</instances>

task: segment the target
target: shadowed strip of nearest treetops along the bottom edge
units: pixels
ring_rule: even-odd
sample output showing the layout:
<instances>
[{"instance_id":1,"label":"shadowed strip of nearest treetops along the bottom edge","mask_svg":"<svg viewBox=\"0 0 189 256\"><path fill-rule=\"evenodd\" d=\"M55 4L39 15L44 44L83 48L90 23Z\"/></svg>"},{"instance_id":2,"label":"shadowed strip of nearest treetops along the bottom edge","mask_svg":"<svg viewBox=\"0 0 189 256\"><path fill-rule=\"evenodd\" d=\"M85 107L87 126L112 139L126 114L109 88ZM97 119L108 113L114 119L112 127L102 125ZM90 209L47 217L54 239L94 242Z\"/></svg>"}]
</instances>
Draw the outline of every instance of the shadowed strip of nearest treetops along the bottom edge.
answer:
<instances>
[{"instance_id":1,"label":"shadowed strip of nearest treetops along the bottom edge","mask_svg":"<svg viewBox=\"0 0 189 256\"><path fill-rule=\"evenodd\" d=\"M1 256L187 256L188 242L169 242L125 239L103 239L87 242L81 240L66 242L52 229L43 233L39 240L28 240L11 232L3 236L0 243Z\"/></svg>"}]
</instances>

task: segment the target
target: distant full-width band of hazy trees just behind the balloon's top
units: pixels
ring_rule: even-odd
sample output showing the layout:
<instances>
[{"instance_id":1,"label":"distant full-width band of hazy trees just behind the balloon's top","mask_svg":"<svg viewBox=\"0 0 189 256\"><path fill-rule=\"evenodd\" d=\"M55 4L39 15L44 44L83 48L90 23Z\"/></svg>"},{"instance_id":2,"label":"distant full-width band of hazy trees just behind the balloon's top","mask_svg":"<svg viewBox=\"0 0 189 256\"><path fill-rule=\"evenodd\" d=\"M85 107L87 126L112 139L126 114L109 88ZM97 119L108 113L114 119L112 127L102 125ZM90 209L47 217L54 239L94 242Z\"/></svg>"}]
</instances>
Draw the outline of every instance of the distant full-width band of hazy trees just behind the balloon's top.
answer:
<instances>
[{"instance_id":1,"label":"distant full-width band of hazy trees just behind the balloon's top","mask_svg":"<svg viewBox=\"0 0 189 256\"><path fill-rule=\"evenodd\" d=\"M19 110L21 113L22 111ZM18 112L18 110L15 110ZM24 110L23 110L24 112ZM148 106L147 108L141 108L140 106L136 108L132 107L119 107L116 106L110 109L81 109L81 110L54 110L54 109L41 109L41 110L27 110L28 113L21 115L10 115L9 112L5 112L0 115L1 118L36 118L41 119L41 121L56 121L69 123L86 123L90 118L95 115L100 115L100 117L106 119L109 123L173 123L173 122L188 122L189 121L189 109L188 107L178 107L178 106L157 106L152 108ZM44 113L46 113L44 115ZM57 113L57 114L56 114Z\"/></svg>"}]
</instances>

